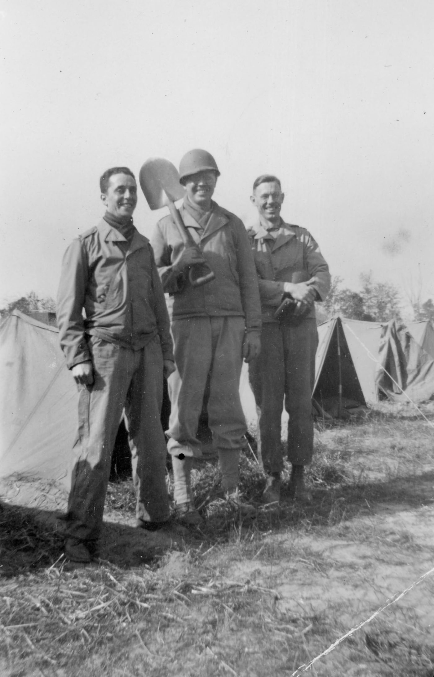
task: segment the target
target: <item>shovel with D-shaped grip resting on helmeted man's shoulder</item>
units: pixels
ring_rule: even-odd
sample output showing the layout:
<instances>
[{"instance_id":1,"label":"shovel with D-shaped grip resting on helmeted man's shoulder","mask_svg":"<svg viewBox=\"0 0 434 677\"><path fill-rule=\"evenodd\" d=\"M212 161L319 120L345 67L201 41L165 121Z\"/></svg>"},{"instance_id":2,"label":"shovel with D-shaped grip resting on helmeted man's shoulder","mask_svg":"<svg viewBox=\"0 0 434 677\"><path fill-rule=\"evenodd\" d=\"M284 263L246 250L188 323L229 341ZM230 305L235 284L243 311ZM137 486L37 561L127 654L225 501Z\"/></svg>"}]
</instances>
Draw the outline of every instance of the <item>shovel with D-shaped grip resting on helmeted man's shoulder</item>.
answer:
<instances>
[{"instance_id":1,"label":"shovel with D-shaped grip resting on helmeted man's shoulder","mask_svg":"<svg viewBox=\"0 0 434 677\"><path fill-rule=\"evenodd\" d=\"M149 158L141 167L139 181L150 208L154 210L167 206L184 245L186 247L197 246L187 232L183 219L174 205L175 200L184 197L185 190L179 183L179 174L172 162L164 158ZM189 269L189 281L192 287L207 284L215 277L208 261L197 263Z\"/></svg>"}]
</instances>

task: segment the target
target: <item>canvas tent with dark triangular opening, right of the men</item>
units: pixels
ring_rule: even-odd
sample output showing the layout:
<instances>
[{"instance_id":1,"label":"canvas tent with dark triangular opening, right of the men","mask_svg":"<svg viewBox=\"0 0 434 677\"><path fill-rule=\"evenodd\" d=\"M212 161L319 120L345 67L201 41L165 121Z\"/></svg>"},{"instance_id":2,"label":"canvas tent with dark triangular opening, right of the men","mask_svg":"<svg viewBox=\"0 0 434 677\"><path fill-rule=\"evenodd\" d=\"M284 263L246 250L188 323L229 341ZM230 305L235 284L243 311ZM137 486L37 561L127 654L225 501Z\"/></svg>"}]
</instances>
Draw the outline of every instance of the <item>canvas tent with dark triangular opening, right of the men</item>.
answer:
<instances>
[{"instance_id":1,"label":"canvas tent with dark triangular opening, right of the men","mask_svg":"<svg viewBox=\"0 0 434 677\"><path fill-rule=\"evenodd\" d=\"M433 397L433 357L393 320L362 322L337 316L320 324L318 335L313 397L320 406L326 404L326 410L327 401L339 397L339 391L343 401L354 405L381 397L403 401Z\"/></svg>"}]
</instances>

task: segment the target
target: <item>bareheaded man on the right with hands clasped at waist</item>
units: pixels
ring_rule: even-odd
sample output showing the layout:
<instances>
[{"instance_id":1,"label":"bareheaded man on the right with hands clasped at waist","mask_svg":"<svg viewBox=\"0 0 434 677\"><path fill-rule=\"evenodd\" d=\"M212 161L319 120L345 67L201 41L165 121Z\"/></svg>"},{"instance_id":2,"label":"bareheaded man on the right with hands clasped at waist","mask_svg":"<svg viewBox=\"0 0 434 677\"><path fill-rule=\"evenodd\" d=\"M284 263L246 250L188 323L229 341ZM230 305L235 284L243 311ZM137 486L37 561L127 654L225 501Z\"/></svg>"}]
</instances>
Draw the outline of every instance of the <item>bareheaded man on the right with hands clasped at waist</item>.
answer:
<instances>
[{"instance_id":1,"label":"bareheaded man on the right with hands clasped at waist","mask_svg":"<svg viewBox=\"0 0 434 677\"><path fill-rule=\"evenodd\" d=\"M262 175L251 201L259 213L249 230L262 305L262 351L249 364L249 380L258 412L258 452L268 477L264 501L280 499L281 415L289 414L287 454L292 464L291 495L310 500L304 466L312 460L312 391L318 346L314 301L324 301L329 267L312 235L281 219L285 195L279 179ZM284 298L287 309L276 318Z\"/></svg>"}]
</instances>

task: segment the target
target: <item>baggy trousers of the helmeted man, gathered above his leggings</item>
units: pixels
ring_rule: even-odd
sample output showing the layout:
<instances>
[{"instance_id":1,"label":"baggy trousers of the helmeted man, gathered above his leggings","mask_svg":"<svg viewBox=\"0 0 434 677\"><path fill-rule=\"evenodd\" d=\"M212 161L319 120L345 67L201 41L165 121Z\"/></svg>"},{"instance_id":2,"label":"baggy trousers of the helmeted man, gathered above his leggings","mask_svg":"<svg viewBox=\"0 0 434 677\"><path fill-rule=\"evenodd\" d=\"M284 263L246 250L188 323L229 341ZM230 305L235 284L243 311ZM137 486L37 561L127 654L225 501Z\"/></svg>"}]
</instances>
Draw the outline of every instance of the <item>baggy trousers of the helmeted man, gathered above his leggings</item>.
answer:
<instances>
[{"instance_id":1,"label":"baggy trousers of the helmeted man, gathered above his leggings","mask_svg":"<svg viewBox=\"0 0 434 677\"><path fill-rule=\"evenodd\" d=\"M212 445L216 450L239 451L246 431L239 398L244 318L174 320L171 330L176 371L168 378L172 407L168 451L172 456L201 456L196 433L208 379Z\"/></svg>"}]
</instances>

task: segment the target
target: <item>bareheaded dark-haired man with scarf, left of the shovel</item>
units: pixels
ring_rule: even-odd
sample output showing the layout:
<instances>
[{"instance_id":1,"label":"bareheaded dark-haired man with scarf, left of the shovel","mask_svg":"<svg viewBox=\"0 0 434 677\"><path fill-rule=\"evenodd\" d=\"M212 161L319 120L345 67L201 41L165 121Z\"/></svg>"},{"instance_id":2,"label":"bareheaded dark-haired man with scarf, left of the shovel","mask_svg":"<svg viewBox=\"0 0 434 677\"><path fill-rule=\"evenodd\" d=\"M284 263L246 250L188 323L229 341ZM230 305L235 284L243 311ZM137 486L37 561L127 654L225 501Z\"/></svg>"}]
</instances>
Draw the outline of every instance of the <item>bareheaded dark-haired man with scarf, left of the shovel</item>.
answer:
<instances>
[{"instance_id":1,"label":"bareheaded dark-haired man with scarf, left of the shovel","mask_svg":"<svg viewBox=\"0 0 434 677\"><path fill-rule=\"evenodd\" d=\"M170 517L160 410L174 356L164 292L149 240L132 223L134 175L114 167L100 185L107 211L66 250L57 296L60 343L79 389L66 555L82 562L96 549L122 412L137 525Z\"/></svg>"}]
</instances>

